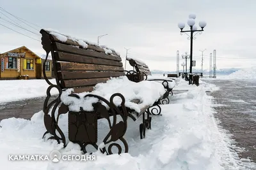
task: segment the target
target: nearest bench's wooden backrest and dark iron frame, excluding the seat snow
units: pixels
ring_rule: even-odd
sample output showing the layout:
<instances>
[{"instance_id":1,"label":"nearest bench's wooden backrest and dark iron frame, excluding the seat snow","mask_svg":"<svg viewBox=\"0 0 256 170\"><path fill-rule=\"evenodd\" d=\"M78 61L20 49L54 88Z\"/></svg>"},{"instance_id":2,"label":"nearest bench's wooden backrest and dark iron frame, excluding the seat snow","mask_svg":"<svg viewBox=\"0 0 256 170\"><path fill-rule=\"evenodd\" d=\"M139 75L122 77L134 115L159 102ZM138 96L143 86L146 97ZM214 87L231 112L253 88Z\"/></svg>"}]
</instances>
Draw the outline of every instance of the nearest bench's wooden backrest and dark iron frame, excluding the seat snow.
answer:
<instances>
[{"instance_id":1,"label":"nearest bench's wooden backrest and dark iron frame, excluding the seat snow","mask_svg":"<svg viewBox=\"0 0 256 170\"><path fill-rule=\"evenodd\" d=\"M96 149L99 147L97 145L97 120L101 118L106 118L108 122L110 122L109 117L113 117L113 120L115 120L113 124L109 123L109 133L103 140L105 145L112 144L108 146L108 149L106 148L107 146L100 149L103 153L112 154L112 146L116 146L118 153L121 153L121 146L115 143L117 140L120 140L124 144L124 152L128 152L128 145L124 139L127 129L127 117L131 117L135 121L142 115L140 138L145 138L145 129L151 128L152 119L149 116L150 108L157 106L159 107L159 111L161 111L158 105L159 101L164 96L166 97L167 94L157 97L154 103L141 108L140 112L127 108L125 106L127 99L119 93L113 94L109 101L101 96L87 94L84 96L84 99L87 99L86 97L95 97L99 100L99 102L92 104L93 111L84 111L83 108L80 108L79 111L70 110L61 101L61 94L63 92L68 92L66 91L68 89L74 89L74 93L69 94L68 97L80 99L81 96L76 93L92 92L93 87L97 83L105 83L111 77L124 76L125 72L121 62L122 59L115 50L101 48L97 45L87 45L85 41L44 29L40 33L42 34L42 46L47 53L47 57L51 52L56 78L56 85L54 85L48 80L45 74L45 67L43 67L45 81L50 85L47 89L47 97L44 102L44 124L47 129L45 134L51 134L51 138L49 139L56 139L58 143L62 141L64 146L67 145L65 135L58 125L60 115L65 113L68 113L68 139L73 143L78 143L84 153L87 152L87 145L92 145ZM47 60L47 57L45 60ZM59 95L54 101L48 103L52 88L58 89ZM120 106L115 106L113 103L114 97L120 97L122 99ZM109 109L100 102L105 103ZM138 104L140 100L132 99L132 102ZM55 112L57 112L56 115ZM122 117L120 122L116 122L117 115ZM109 139L109 137L111 138Z\"/></svg>"}]
</instances>

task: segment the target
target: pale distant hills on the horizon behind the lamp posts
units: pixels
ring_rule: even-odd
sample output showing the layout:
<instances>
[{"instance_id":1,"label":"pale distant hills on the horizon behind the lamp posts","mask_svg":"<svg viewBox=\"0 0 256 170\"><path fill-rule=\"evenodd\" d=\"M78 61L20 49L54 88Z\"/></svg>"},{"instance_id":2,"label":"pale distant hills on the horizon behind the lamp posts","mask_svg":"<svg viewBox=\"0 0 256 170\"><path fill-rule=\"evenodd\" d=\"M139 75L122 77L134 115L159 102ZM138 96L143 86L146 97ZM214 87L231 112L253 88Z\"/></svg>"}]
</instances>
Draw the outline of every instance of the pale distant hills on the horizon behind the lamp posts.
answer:
<instances>
[{"instance_id":1,"label":"pale distant hills on the horizon behind the lamp posts","mask_svg":"<svg viewBox=\"0 0 256 170\"><path fill-rule=\"evenodd\" d=\"M228 69L216 69L216 74L221 74L221 75L229 75L231 73L234 73L238 71L240 68L228 68ZM182 72L183 70L180 70ZM189 70L188 70L189 71ZM193 72L201 72L201 69L193 69ZM162 71L162 70L157 70L154 69L151 71L152 74L168 74L168 73L176 73L176 71ZM209 70L205 69L203 71L203 74L209 74ZM212 70L213 74L213 70Z\"/></svg>"}]
</instances>

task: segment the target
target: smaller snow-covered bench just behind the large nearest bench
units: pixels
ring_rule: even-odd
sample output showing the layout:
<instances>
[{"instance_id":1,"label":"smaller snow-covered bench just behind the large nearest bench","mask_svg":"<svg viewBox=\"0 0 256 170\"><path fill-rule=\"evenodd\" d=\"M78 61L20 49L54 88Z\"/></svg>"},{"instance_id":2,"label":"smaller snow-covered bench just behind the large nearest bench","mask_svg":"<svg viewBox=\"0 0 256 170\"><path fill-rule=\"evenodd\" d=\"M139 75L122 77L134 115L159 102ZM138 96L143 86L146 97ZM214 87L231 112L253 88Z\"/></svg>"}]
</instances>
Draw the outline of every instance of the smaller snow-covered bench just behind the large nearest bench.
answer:
<instances>
[{"instance_id":1,"label":"smaller snow-covered bench just behind the large nearest bench","mask_svg":"<svg viewBox=\"0 0 256 170\"><path fill-rule=\"evenodd\" d=\"M157 81L159 83L162 83L164 86L164 89L166 89L171 95L173 95L172 89L175 87L175 79L174 78L162 78L159 76L152 76L151 71L147 64L145 62L134 59L131 57L126 58L129 61L129 64L134 67L136 71L130 71L136 76L133 77L138 77L137 80L143 81L143 80L148 80L148 81ZM132 77L132 78L133 78ZM168 97L163 99L161 101L161 104L169 104L170 101Z\"/></svg>"}]
</instances>

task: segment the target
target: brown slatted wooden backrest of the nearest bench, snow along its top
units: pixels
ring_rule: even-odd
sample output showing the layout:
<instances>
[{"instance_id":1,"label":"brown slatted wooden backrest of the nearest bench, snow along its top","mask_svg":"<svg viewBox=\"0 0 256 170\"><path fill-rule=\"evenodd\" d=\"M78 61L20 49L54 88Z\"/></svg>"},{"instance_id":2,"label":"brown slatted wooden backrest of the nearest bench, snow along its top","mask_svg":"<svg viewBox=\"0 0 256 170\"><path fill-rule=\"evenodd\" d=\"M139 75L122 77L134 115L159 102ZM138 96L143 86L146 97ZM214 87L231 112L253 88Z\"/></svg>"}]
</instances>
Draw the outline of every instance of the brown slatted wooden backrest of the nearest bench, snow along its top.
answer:
<instances>
[{"instance_id":1,"label":"brown slatted wooden backrest of the nearest bench, snow along its top","mask_svg":"<svg viewBox=\"0 0 256 170\"><path fill-rule=\"evenodd\" d=\"M125 74L122 59L115 50L44 29L40 33L43 47L51 45L56 83L61 89L91 92L97 83Z\"/></svg>"}]
</instances>

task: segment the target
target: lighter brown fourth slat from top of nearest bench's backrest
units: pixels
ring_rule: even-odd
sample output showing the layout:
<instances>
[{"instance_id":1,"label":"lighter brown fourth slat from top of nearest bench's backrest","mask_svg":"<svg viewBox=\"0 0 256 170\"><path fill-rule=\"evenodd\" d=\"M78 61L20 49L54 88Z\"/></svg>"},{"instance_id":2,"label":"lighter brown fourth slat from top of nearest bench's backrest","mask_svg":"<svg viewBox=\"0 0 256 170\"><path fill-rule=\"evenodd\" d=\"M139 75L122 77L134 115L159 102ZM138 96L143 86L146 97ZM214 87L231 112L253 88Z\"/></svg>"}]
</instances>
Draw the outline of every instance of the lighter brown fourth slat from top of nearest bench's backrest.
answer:
<instances>
[{"instance_id":1,"label":"lighter brown fourth slat from top of nearest bench's backrest","mask_svg":"<svg viewBox=\"0 0 256 170\"><path fill-rule=\"evenodd\" d=\"M57 62L58 71L124 71L124 67L81 64L76 62Z\"/></svg>"}]
</instances>

